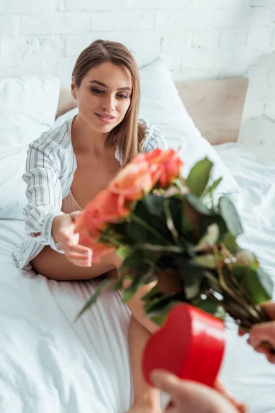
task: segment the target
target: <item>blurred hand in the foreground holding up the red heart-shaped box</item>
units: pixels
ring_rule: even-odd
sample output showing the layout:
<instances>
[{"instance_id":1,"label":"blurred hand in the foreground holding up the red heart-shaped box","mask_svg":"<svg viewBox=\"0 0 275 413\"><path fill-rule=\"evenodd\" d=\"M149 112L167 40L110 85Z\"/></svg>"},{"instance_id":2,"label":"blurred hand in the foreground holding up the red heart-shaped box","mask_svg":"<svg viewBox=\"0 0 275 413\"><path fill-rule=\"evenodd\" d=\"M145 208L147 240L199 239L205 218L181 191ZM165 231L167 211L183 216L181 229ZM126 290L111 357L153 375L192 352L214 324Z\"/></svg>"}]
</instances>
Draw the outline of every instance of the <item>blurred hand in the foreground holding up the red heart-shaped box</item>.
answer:
<instances>
[{"instance_id":1,"label":"blurred hand in the foreground holding up the red heart-shaped box","mask_svg":"<svg viewBox=\"0 0 275 413\"><path fill-rule=\"evenodd\" d=\"M170 372L155 370L151 380L171 397L165 413L237 413L234 405L217 390L195 381L181 380ZM245 412L245 410L243 410Z\"/></svg>"}]
</instances>

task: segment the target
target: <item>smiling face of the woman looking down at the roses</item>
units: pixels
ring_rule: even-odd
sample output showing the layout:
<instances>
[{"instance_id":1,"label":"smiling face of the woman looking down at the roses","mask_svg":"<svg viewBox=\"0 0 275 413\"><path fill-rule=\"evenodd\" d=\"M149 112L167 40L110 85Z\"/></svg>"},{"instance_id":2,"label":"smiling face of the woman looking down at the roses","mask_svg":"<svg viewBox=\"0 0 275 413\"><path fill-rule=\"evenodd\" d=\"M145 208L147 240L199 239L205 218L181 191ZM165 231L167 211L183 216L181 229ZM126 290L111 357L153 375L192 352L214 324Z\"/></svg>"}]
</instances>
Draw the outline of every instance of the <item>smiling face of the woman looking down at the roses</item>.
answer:
<instances>
[{"instance_id":1,"label":"smiling face of the woman looking down at the roses","mask_svg":"<svg viewBox=\"0 0 275 413\"><path fill-rule=\"evenodd\" d=\"M130 103L132 80L123 65L104 62L89 70L80 87L72 79L78 113L92 129L108 133L124 118Z\"/></svg>"}]
</instances>

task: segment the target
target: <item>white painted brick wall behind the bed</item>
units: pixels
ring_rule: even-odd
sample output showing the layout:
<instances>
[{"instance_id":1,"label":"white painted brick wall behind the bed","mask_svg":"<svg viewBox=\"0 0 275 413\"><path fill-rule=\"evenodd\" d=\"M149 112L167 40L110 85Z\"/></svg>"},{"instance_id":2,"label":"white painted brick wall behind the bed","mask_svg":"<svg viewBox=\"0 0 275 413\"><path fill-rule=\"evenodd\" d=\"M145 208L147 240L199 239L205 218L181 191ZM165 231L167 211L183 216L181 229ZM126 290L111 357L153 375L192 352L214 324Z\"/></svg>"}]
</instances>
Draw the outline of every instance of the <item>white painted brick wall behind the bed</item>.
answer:
<instances>
[{"instance_id":1,"label":"white painted brick wall behind the bed","mask_svg":"<svg viewBox=\"0 0 275 413\"><path fill-rule=\"evenodd\" d=\"M275 118L275 0L0 0L0 76L58 76L68 87L94 39L139 64L162 55L175 80L248 76L244 118Z\"/></svg>"}]
</instances>

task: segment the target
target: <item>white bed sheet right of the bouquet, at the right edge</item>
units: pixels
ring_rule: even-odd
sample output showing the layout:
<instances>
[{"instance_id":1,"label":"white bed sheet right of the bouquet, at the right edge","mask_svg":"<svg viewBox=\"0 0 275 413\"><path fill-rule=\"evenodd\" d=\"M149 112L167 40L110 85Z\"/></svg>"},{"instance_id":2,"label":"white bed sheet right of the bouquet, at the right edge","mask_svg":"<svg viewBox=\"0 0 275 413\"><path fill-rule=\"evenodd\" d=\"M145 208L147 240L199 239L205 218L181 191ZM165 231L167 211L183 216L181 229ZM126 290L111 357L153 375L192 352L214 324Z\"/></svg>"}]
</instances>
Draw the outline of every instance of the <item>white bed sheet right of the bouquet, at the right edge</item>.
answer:
<instances>
[{"instance_id":1,"label":"white bed sheet right of the bouquet, at the right edge","mask_svg":"<svg viewBox=\"0 0 275 413\"><path fill-rule=\"evenodd\" d=\"M242 188L233 197L244 229L239 244L256 253L275 283L275 163L236 143L214 148ZM230 321L221 378L233 394L248 404L249 412L275 412L275 366L254 352L246 337L238 337L236 326Z\"/></svg>"}]
</instances>

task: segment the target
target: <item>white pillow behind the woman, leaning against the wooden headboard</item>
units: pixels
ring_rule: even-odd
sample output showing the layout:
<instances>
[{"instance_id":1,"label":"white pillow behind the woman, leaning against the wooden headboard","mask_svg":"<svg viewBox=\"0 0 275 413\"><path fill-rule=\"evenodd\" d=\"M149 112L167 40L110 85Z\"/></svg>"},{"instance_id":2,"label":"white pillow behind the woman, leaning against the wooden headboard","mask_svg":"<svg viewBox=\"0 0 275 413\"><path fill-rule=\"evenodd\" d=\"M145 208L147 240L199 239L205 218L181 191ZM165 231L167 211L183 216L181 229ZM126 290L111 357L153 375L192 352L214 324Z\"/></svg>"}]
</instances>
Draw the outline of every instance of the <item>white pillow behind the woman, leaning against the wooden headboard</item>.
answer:
<instances>
[{"instance_id":1,"label":"white pillow behind the woman, leaning against the wooden headboard","mask_svg":"<svg viewBox=\"0 0 275 413\"><path fill-rule=\"evenodd\" d=\"M208 156L214 163L213 180L223 178L217 187L216 194L239 192L240 188L236 180L225 167L218 153L201 136L192 118L188 115L164 61L157 58L141 67L140 83L142 98L139 117L152 123L164 133L168 147L175 150L181 147L180 157L184 160L184 176L188 175L195 162ZM61 125L77 113L76 107L59 116L55 125Z\"/></svg>"}]
</instances>

